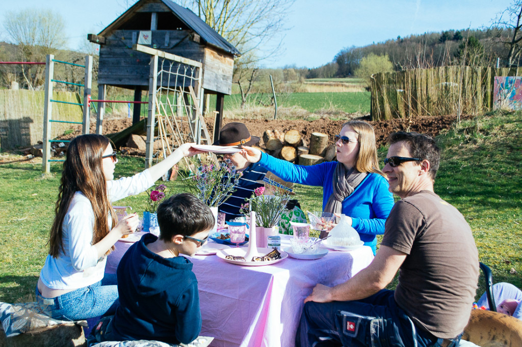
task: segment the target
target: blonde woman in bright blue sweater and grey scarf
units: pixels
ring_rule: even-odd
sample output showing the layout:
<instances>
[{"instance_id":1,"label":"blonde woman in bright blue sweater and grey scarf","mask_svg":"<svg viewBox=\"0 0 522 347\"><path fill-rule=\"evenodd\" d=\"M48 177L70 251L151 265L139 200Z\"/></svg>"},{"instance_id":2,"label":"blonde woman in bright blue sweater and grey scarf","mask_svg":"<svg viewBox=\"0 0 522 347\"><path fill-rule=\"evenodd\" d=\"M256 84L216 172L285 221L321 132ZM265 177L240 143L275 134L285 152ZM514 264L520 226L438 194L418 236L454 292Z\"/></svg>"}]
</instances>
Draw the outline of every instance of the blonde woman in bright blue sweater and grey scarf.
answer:
<instances>
[{"instance_id":1,"label":"blonde woman in bright blue sweater and grey scarf","mask_svg":"<svg viewBox=\"0 0 522 347\"><path fill-rule=\"evenodd\" d=\"M240 153L285 181L322 186L323 210L348 216L361 240L375 254L376 235L384 233L384 222L394 200L379 169L373 127L352 120L342 125L336 139L337 162L312 166L294 165L247 146Z\"/></svg>"}]
</instances>

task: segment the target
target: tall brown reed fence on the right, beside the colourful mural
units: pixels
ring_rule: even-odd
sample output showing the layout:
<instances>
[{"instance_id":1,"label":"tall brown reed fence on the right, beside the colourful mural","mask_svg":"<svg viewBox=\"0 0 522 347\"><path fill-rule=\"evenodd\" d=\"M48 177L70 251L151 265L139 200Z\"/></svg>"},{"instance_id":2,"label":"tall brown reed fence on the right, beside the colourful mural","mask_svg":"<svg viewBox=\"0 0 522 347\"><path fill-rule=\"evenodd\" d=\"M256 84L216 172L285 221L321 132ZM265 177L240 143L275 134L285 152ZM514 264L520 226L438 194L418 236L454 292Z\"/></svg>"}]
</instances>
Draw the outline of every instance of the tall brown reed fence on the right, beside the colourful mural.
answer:
<instances>
[{"instance_id":1,"label":"tall brown reed fence on the right, beside the colourful mural","mask_svg":"<svg viewBox=\"0 0 522 347\"><path fill-rule=\"evenodd\" d=\"M376 73L371 79L371 117L480 114L493 109L495 76L520 72L522 68L446 66Z\"/></svg>"}]
</instances>

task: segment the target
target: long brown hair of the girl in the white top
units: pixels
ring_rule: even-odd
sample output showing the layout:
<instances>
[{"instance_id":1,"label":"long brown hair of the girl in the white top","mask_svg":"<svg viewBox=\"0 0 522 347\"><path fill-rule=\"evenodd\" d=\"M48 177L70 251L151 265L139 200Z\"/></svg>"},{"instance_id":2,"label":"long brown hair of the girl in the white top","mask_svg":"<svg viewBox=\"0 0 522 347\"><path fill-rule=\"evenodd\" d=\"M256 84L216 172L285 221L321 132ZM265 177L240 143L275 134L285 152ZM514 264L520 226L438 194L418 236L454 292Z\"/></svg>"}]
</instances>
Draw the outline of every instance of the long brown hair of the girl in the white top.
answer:
<instances>
[{"instance_id":1,"label":"long brown hair of the girl in the white top","mask_svg":"<svg viewBox=\"0 0 522 347\"><path fill-rule=\"evenodd\" d=\"M49 254L55 258L60 252L65 253L62 227L76 192L82 192L89 199L94 212L92 244L98 243L109 233L109 213L112 226L116 225L116 214L109 203L102 165L102 155L109 144L108 138L97 134L80 135L69 143L49 235Z\"/></svg>"}]
</instances>

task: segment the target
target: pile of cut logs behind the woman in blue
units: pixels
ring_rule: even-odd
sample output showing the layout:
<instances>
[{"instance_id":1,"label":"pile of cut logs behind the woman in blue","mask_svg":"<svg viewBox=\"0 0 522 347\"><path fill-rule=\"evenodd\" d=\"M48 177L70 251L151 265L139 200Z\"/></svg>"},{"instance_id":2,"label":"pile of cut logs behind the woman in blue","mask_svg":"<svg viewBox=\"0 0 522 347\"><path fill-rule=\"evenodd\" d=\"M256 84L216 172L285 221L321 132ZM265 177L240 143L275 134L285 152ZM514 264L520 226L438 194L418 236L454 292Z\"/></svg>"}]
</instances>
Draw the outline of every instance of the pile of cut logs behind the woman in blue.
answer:
<instances>
[{"instance_id":1,"label":"pile of cut logs behind the woman in blue","mask_svg":"<svg viewBox=\"0 0 522 347\"><path fill-rule=\"evenodd\" d=\"M293 129L284 133L268 129L263 141L268 154L299 165L331 162L336 157L335 143L328 145L328 135L321 132L312 133L310 146L301 133Z\"/></svg>"}]
</instances>

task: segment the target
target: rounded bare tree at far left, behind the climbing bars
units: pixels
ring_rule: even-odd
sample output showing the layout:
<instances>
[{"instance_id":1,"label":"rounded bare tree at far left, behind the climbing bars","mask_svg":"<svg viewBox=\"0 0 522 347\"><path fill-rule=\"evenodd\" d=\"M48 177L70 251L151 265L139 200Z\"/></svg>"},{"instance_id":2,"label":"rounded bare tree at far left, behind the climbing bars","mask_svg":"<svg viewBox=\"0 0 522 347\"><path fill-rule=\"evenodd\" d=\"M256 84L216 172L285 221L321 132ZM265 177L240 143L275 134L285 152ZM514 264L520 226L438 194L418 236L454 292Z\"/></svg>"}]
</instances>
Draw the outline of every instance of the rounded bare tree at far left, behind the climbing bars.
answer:
<instances>
[{"instance_id":1,"label":"rounded bare tree at far left, behind the climbing bars","mask_svg":"<svg viewBox=\"0 0 522 347\"><path fill-rule=\"evenodd\" d=\"M45 61L45 55L66 44L65 20L51 10L27 8L5 14L4 28L11 43L18 45L22 61ZM43 84L43 67L21 66L28 89Z\"/></svg>"}]
</instances>

